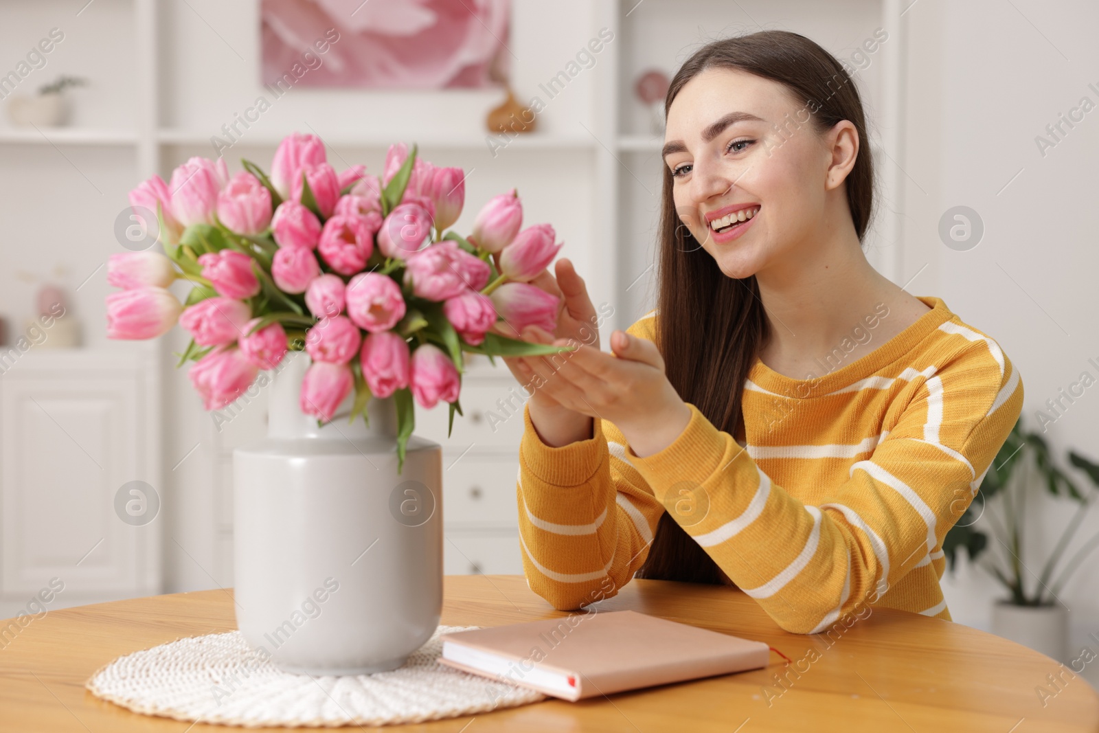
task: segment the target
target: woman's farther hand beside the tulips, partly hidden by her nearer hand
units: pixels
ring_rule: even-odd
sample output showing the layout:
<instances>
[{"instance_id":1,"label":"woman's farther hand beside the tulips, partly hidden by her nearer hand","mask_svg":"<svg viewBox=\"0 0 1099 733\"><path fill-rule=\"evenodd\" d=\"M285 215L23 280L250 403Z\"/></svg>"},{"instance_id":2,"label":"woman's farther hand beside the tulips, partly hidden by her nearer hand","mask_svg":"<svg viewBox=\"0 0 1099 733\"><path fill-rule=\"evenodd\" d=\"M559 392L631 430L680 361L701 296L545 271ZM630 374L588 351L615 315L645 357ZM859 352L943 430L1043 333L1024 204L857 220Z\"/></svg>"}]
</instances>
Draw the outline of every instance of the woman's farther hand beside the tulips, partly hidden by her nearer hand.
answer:
<instances>
[{"instance_id":1,"label":"woman's farther hand beside the tulips, partly hidden by her nearer hand","mask_svg":"<svg viewBox=\"0 0 1099 733\"><path fill-rule=\"evenodd\" d=\"M503 336L540 344L553 343L554 338L566 341L571 338L582 344L595 344L598 349L598 318L584 279L577 275L571 260L565 257L557 260L556 273L556 279L546 269L531 280L531 285L562 299L560 308L557 311L557 327L554 333L551 334L535 325L529 325L523 329L522 333L517 333L514 329L502 321L493 325L492 331ZM542 441L554 447L588 440L592 436L590 415L562 406L543 389L556 373L555 364L559 366L563 359L570 356L571 353L564 352L553 357L501 357L515 379L526 388L528 392L532 392L529 402L531 422L534 423Z\"/></svg>"}]
</instances>

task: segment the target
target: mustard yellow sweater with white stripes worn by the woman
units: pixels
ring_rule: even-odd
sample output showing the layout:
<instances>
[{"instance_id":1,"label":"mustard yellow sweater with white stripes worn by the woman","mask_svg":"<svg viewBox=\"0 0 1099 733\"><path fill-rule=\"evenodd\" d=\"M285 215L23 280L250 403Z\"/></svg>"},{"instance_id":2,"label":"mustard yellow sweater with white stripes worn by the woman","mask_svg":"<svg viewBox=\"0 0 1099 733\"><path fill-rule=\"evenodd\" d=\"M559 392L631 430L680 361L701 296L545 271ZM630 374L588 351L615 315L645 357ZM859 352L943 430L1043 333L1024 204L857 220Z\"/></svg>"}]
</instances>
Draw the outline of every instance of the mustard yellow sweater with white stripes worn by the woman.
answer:
<instances>
[{"instance_id":1,"label":"mustard yellow sweater with white stripes worn by the woman","mask_svg":"<svg viewBox=\"0 0 1099 733\"><path fill-rule=\"evenodd\" d=\"M517 498L531 589L557 609L613 596L667 510L787 631L819 633L868 603L951 620L943 536L1019 418L1023 386L992 338L941 299L920 300L932 310L815 379L757 359L741 442L688 402L684 432L644 458L607 420L551 447L524 408ZM650 312L628 332L655 341L657 321Z\"/></svg>"}]
</instances>

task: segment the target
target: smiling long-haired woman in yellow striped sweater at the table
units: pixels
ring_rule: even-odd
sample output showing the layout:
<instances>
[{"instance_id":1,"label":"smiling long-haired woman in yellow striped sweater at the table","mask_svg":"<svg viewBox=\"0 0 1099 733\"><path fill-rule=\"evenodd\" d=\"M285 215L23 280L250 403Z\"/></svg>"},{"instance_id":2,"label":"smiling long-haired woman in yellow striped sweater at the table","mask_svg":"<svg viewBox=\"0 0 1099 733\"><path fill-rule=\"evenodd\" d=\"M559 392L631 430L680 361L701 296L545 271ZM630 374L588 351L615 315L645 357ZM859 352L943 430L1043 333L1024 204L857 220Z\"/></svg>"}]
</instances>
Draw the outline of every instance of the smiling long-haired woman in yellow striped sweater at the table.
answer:
<instances>
[{"instance_id":1,"label":"smiling long-haired woman in yellow striped sweater at the table","mask_svg":"<svg viewBox=\"0 0 1099 733\"><path fill-rule=\"evenodd\" d=\"M556 332L523 336L584 345L506 359L541 385L517 487L531 588L574 609L635 576L735 585L800 633L875 604L950 620L943 537L1019 418L1019 373L867 262L866 121L834 56L782 31L718 41L665 109L657 308L600 352L562 259L534 280L564 296ZM878 338L818 374L881 309Z\"/></svg>"}]
</instances>

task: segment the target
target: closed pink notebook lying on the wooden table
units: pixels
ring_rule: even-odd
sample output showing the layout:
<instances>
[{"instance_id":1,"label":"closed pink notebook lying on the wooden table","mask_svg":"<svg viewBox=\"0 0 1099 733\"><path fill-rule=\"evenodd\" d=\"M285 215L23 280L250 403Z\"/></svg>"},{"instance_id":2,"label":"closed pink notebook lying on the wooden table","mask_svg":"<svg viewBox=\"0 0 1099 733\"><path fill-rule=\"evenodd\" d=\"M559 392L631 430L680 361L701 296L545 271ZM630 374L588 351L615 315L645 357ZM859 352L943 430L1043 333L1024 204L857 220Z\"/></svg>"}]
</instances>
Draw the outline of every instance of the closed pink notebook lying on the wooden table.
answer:
<instances>
[{"instance_id":1,"label":"closed pink notebook lying on the wooden table","mask_svg":"<svg viewBox=\"0 0 1099 733\"><path fill-rule=\"evenodd\" d=\"M580 700L766 667L769 647L636 611L444 634L442 664Z\"/></svg>"}]
</instances>

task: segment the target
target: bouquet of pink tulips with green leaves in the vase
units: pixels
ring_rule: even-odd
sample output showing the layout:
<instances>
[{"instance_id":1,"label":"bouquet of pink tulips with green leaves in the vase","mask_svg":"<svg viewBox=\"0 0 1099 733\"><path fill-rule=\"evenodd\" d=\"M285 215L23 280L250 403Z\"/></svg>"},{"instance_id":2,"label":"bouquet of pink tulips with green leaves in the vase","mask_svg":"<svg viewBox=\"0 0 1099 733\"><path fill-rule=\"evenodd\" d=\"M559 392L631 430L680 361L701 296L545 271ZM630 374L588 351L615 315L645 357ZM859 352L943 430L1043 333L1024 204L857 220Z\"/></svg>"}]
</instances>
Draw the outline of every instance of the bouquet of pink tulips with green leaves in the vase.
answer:
<instances>
[{"instance_id":1,"label":"bouquet of pink tulips with green leaves in the vase","mask_svg":"<svg viewBox=\"0 0 1099 733\"><path fill-rule=\"evenodd\" d=\"M179 365L207 410L236 400L288 351L311 365L301 410L332 420L354 391L351 420L371 397L395 397L399 469L423 408L443 400L462 414L463 352L488 355L567 351L515 334L553 331L558 298L530 280L560 244L548 224L520 231L512 189L491 199L468 236L446 231L465 202L460 168L390 146L379 179L364 166L336 173L314 135L292 134L268 177L255 164L230 177L223 159L193 157L170 184L154 176L130 192L134 212L157 218L165 255L111 255L107 298L111 338L154 338L178 321L191 335ZM141 215L138 213L138 215ZM152 222L148 222L152 224ZM193 284L180 303L168 290ZM495 363L495 362L493 362Z\"/></svg>"}]
</instances>

